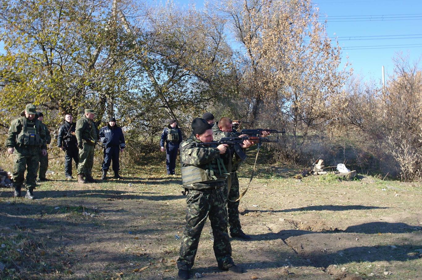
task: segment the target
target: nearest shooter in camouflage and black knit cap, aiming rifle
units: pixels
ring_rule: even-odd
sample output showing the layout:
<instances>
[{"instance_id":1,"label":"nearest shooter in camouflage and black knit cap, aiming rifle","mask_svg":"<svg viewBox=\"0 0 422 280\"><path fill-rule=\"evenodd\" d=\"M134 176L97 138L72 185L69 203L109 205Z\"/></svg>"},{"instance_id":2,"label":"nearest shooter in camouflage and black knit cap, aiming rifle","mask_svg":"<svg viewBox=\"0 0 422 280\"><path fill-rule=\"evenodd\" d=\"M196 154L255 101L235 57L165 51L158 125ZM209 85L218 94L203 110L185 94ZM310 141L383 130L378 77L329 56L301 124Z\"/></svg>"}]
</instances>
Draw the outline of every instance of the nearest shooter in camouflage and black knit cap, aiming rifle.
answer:
<instances>
[{"instance_id":1,"label":"nearest shooter in camouflage and black knit cap, aiming rifle","mask_svg":"<svg viewBox=\"0 0 422 280\"><path fill-rule=\"evenodd\" d=\"M206 120L195 118L192 135L180 144L182 182L187 190L186 227L183 232L180 257L177 260L179 277L189 278L198 248L199 237L207 217L214 230L214 254L219 269L242 273L233 259L227 233L227 210L222 192L226 171L222 158L226 157L226 144L197 146L200 142L213 140L211 125Z\"/></svg>"}]
</instances>

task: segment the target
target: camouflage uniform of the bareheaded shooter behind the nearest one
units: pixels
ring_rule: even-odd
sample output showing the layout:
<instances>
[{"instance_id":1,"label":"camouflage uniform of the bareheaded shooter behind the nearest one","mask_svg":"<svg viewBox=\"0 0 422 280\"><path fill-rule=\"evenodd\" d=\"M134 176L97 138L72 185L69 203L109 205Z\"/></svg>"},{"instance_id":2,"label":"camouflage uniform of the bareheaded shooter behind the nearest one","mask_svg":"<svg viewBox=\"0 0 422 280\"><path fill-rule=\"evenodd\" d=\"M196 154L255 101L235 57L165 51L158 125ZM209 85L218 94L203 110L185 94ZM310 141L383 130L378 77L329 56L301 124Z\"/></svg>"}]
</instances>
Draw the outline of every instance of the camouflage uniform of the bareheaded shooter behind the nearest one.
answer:
<instances>
[{"instance_id":1,"label":"camouflage uniform of the bareheaded shooter behind the nearest one","mask_svg":"<svg viewBox=\"0 0 422 280\"><path fill-rule=\"evenodd\" d=\"M213 126L213 136L214 141L218 141L222 139L223 137L238 137L239 133L233 129L232 132L223 132L218 127L218 122L214 124ZM240 218L239 218L239 201L232 202L230 200L236 200L239 197L239 179L237 175L237 170L240 167L242 160L235 154L233 146L230 147L230 155L232 156L232 169L229 172L232 172L231 177L231 186L230 186L230 193L227 193L227 181L225 184L225 194L228 200L227 202L227 216L229 220L230 225L230 235L240 235L243 234L242 226L240 224ZM225 162L226 166L228 165L228 162Z\"/></svg>"}]
</instances>

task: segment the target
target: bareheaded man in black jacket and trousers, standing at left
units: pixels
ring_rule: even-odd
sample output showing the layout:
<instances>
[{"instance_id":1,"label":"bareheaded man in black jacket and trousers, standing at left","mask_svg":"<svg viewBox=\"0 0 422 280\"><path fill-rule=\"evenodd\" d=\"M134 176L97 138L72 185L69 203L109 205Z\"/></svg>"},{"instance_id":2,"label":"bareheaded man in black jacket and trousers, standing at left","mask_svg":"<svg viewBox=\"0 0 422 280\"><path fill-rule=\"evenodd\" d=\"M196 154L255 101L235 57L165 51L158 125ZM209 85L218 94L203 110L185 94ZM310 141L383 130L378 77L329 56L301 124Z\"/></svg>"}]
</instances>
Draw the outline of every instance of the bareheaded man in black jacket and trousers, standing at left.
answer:
<instances>
[{"instance_id":1,"label":"bareheaded man in black jacket and trousers, standing at left","mask_svg":"<svg viewBox=\"0 0 422 280\"><path fill-rule=\"evenodd\" d=\"M73 123L72 114L65 115L65 122L59 128L59 135L57 136L57 147L65 152L65 176L66 179L73 179L72 177L72 159L78 167L78 141L75 136L76 123Z\"/></svg>"}]
</instances>

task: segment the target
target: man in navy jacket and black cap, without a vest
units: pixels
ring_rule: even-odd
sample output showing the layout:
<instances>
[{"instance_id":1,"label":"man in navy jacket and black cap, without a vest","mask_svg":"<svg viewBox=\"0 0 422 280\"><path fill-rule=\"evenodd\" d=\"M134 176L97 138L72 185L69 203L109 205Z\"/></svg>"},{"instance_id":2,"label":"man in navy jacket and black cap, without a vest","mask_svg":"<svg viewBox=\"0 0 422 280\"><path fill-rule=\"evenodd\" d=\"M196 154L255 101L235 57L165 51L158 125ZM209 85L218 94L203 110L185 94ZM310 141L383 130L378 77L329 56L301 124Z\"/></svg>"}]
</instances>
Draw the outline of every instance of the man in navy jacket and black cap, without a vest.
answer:
<instances>
[{"instance_id":1,"label":"man in navy jacket and black cap, without a vest","mask_svg":"<svg viewBox=\"0 0 422 280\"><path fill-rule=\"evenodd\" d=\"M103 176L101 176L101 180L106 179L111 161L113 161L114 178L122 179L119 176L119 152L123 152L126 144L124 143L122 128L116 125L116 119L114 117L108 120L107 126L100 129L100 142L104 144L104 161L101 167Z\"/></svg>"}]
</instances>

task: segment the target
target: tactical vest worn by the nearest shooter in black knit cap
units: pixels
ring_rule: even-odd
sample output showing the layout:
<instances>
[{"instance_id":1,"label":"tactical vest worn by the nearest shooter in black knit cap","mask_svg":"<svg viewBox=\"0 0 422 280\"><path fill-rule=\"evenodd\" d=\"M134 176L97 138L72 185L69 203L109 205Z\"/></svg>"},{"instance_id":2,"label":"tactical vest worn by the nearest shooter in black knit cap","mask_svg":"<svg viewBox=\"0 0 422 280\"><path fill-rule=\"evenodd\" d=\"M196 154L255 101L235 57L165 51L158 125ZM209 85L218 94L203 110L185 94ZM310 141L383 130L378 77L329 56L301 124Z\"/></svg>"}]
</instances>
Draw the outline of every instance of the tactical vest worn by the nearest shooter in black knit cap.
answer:
<instances>
[{"instance_id":1,"label":"tactical vest worn by the nearest shooter in black knit cap","mask_svg":"<svg viewBox=\"0 0 422 280\"><path fill-rule=\"evenodd\" d=\"M188 142L185 143L189 144ZM197 167L195 165L185 165L180 168L182 175L182 184L184 186L194 183L211 183L224 181L227 169L223 160L219 157L211 162Z\"/></svg>"}]
</instances>

